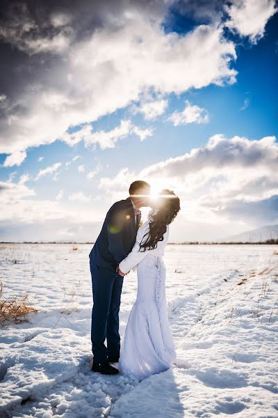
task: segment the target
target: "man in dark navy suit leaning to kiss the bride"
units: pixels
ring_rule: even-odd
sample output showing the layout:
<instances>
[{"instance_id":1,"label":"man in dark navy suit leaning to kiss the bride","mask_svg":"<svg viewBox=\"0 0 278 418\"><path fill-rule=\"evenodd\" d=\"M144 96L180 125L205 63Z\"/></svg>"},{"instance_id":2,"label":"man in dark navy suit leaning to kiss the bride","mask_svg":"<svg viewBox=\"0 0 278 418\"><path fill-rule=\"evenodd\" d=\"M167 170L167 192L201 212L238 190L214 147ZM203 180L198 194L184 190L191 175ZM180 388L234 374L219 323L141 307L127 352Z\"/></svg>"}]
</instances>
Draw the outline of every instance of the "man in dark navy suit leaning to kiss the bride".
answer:
<instances>
[{"instance_id":1,"label":"man in dark navy suit leaning to kiss the bride","mask_svg":"<svg viewBox=\"0 0 278 418\"><path fill-rule=\"evenodd\" d=\"M92 371L115 374L110 363L120 357L119 311L123 275L117 266L136 242L139 208L149 206L150 185L136 180L129 187L129 197L111 206L99 236L90 251L92 275ZM117 271L116 271L117 270ZM104 345L106 339L107 347Z\"/></svg>"}]
</instances>

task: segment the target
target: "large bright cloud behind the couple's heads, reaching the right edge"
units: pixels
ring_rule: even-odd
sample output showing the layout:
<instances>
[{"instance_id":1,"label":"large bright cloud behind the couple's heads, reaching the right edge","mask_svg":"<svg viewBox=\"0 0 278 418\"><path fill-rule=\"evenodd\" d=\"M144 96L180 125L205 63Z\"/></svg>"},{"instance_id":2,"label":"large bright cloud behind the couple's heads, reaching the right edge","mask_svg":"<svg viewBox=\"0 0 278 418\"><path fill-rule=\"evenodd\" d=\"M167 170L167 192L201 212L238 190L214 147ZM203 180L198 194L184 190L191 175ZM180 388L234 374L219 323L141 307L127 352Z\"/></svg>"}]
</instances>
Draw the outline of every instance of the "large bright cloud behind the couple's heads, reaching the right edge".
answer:
<instances>
[{"instance_id":1,"label":"large bright cloud behind the couple's heads, reaching the right edge","mask_svg":"<svg viewBox=\"0 0 278 418\"><path fill-rule=\"evenodd\" d=\"M278 178L274 176L278 169L277 155L275 137L227 139L216 134L205 146L146 167L139 173L126 167L113 178L101 178L99 188L115 198L114 191L124 193L133 180L140 178L155 190L174 189L183 202L181 215L186 222L227 226L229 222L273 222L275 203L271 203L272 211L262 208L278 194ZM256 210L251 217L248 208L254 208L255 203ZM242 213L237 212L234 219L232 208L240 204ZM276 212L278 221L278 208Z\"/></svg>"}]
</instances>

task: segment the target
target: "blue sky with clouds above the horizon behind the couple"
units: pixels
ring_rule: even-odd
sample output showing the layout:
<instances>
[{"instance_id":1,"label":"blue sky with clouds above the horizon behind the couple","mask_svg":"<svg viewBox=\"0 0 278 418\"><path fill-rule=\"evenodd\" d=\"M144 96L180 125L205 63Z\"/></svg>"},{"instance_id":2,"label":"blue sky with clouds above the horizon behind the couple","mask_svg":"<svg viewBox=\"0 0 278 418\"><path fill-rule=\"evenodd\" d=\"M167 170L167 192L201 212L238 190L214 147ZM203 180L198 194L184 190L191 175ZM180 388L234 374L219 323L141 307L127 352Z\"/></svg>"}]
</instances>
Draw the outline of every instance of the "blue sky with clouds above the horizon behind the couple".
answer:
<instances>
[{"instance_id":1,"label":"blue sky with clouds above the horizon behind the couple","mask_svg":"<svg viewBox=\"0 0 278 418\"><path fill-rule=\"evenodd\" d=\"M53 36L28 6L36 42L7 10L0 240L93 241L138 178L181 197L172 241L277 223L276 6L222 3L122 1L116 27L96 3L82 36L74 10L47 10Z\"/></svg>"}]
</instances>

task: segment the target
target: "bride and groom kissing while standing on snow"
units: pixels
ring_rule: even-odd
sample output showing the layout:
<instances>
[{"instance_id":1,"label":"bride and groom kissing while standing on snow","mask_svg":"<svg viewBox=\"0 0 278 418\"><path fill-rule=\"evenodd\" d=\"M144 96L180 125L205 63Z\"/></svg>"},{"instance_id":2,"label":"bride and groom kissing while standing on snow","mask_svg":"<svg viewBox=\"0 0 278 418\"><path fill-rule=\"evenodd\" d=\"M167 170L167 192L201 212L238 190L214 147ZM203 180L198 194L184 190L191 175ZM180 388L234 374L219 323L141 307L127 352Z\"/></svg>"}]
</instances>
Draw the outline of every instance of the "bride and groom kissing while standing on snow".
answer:
<instances>
[{"instance_id":1,"label":"bride and groom kissing while standing on snow","mask_svg":"<svg viewBox=\"0 0 278 418\"><path fill-rule=\"evenodd\" d=\"M143 380L169 369L176 358L167 317L164 249L169 225L180 210L179 197L163 189L150 197L150 185L136 180L129 197L117 201L106 214L90 251L92 275L92 371L122 373ZM149 206L139 227L140 208ZM119 311L122 284L137 270L138 293L120 345ZM126 279L125 279L126 280ZM105 346L106 340L106 346ZM111 363L118 362L118 369Z\"/></svg>"}]
</instances>

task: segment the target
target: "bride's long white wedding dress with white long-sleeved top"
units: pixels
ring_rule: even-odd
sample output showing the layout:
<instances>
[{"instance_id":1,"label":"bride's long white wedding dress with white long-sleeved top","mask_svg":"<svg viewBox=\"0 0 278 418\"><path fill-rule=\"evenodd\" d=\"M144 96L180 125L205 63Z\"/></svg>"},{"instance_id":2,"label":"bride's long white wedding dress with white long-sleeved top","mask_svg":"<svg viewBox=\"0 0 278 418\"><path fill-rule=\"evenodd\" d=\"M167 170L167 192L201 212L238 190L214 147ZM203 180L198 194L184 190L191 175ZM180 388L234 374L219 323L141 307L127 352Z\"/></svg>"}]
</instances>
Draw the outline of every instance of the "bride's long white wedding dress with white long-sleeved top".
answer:
<instances>
[{"instance_id":1,"label":"bride's long white wedding dress with white long-sleeved top","mask_svg":"<svg viewBox=\"0 0 278 418\"><path fill-rule=\"evenodd\" d=\"M119 371L143 380L169 369L176 358L174 341L167 316L165 296L164 249L169 226L155 249L138 251L140 242L149 231L154 210L136 236L132 251L120 263L122 272L137 270L138 293L126 325L120 348ZM147 235L144 240L147 239Z\"/></svg>"}]
</instances>

